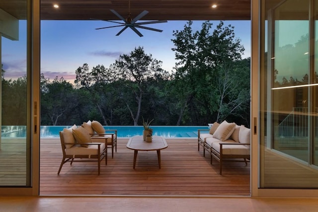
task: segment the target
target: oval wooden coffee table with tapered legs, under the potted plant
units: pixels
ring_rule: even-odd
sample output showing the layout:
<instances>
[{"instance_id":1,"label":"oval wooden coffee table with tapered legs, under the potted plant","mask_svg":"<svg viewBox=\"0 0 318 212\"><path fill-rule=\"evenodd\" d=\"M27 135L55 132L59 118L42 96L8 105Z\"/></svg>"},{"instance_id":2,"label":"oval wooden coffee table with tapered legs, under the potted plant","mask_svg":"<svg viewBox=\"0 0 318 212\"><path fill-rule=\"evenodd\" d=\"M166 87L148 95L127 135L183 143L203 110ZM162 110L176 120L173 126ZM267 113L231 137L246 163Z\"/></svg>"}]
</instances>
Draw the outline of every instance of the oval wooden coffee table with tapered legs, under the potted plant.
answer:
<instances>
[{"instance_id":1,"label":"oval wooden coffee table with tapered legs, under the potted plant","mask_svg":"<svg viewBox=\"0 0 318 212\"><path fill-rule=\"evenodd\" d=\"M134 136L129 139L127 148L134 150L134 169L136 166L136 159L138 151L157 151L159 168L161 168L160 150L168 147L164 138L153 136L152 142L143 140L143 136Z\"/></svg>"}]
</instances>

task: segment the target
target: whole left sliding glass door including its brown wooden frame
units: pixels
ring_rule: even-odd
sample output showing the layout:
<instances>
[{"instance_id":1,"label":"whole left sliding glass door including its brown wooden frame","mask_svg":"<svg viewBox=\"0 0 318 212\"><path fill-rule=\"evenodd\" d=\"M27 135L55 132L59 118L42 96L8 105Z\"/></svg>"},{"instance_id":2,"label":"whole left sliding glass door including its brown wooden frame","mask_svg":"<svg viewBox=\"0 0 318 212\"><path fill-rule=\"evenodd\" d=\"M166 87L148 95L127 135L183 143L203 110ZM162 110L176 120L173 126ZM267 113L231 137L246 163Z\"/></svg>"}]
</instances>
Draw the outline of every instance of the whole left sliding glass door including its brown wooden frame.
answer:
<instances>
[{"instance_id":1,"label":"whole left sliding glass door including its brown wooden frame","mask_svg":"<svg viewBox=\"0 0 318 212\"><path fill-rule=\"evenodd\" d=\"M39 5L0 0L0 195L38 195Z\"/></svg>"}]
</instances>

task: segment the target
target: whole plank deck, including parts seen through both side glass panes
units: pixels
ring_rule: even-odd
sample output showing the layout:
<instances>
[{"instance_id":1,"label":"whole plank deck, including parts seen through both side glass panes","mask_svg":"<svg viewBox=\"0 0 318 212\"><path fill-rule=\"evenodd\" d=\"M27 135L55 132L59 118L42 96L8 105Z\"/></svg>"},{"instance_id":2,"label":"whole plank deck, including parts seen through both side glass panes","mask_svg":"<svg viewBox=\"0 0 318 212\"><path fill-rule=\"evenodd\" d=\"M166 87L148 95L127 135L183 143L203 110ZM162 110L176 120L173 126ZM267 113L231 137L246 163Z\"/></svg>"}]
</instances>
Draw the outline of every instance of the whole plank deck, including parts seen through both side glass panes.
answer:
<instances>
[{"instance_id":1,"label":"whole plank deck, including parts seen through both side glass panes","mask_svg":"<svg viewBox=\"0 0 318 212\"><path fill-rule=\"evenodd\" d=\"M114 158L101 165L95 162L67 163L57 175L62 160L59 139L42 139L40 144L40 195L160 195L160 196L249 196L249 163L219 163L197 151L196 139L167 139L161 150L161 169L155 151L140 151L133 169L133 150L128 139L118 141ZM0 186L24 186L26 181L25 139L2 139ZM265 150L266 188L317 188L318 171L302 163ZM7 161L10 161L9 163ZM306 179L306 180L304 180Z\"/></svg>"}]
</instances>

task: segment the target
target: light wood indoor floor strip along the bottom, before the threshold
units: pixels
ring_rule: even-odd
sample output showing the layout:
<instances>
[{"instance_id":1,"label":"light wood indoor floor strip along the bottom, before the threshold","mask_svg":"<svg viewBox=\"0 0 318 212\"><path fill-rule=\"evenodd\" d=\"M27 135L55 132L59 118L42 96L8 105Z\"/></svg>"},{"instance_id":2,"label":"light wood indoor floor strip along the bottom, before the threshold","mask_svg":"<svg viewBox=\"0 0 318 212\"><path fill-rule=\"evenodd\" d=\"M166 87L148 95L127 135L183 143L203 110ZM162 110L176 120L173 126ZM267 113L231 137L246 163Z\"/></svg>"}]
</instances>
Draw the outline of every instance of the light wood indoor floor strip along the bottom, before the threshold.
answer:
<instances>
[{"instance_id":1,"label":"light wood indoor floor strip along the bottom, before the threshold","mask_svg":"<svg viewBox=\"0 0 318 212\"><path fill-rule=\"evenodd\" d=\"M1 212L317 212L317 199L0 197Z\"/></svg>"}]
</instances>

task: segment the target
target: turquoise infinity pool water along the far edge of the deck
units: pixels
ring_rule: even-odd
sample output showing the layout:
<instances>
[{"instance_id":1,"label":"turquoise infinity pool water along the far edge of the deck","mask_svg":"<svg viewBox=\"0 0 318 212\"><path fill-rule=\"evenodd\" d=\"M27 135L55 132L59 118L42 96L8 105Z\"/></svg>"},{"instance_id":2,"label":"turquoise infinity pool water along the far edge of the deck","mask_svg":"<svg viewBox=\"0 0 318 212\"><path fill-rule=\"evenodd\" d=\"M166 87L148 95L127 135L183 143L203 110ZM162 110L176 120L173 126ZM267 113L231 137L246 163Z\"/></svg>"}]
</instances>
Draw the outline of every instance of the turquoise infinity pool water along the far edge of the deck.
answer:
<instances>
[{"instance_id":1,"label":"turquoise infinity pool water along the far edge of the deck","mask_svg":"<svg viewBox=\"0 0 318 212\"><path fill-rule=\"evenodd\" d=\"M72 126L41 126L41 138L59 138L59 131ZM104 126L106 130L117 129L119 138L129 138L143 135L143 126ZM198 129L209 129L208 126L151 126L154 136L164 138L198 137ZM1 137L25 137L25 126L2 126Z\"/></svg>"}]
</instances>

